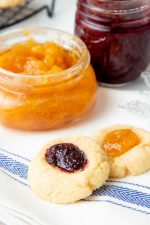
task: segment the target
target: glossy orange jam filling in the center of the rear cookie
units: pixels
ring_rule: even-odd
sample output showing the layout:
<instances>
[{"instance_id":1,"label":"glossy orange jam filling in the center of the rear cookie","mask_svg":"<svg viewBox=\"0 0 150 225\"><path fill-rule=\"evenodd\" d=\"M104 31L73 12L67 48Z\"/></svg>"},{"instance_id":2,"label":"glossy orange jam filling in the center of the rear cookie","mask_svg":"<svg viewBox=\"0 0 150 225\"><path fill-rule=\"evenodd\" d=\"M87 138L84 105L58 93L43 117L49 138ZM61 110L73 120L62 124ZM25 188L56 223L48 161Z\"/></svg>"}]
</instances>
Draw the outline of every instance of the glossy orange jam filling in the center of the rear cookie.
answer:
<instances>
[{"instance_id":1,"label":"glossy orange jam filling in the center of the rear cookie","mask_svg":"<svg viewBox=\"0 0 150 225\"><path fill-rule=\"evenodd\" d=\"M117 157L138 145L138 136L130 129L115 130L108 133L103 142L104 150L110 157Z\"/></svg>"}]
</instances>

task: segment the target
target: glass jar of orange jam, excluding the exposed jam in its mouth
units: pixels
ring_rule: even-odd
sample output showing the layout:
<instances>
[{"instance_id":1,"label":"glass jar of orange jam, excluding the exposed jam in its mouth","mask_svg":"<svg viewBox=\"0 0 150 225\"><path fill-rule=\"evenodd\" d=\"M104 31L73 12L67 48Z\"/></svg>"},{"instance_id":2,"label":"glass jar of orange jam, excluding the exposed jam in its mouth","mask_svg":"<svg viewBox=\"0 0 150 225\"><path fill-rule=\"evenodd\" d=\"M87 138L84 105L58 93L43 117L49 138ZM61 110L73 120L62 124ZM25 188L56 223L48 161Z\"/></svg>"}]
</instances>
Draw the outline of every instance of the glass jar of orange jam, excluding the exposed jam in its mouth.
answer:
<instances>
[{"instance_id":1,"label":"glass jar of orange jam, excluding the exposed jam in its mouth","mask_svg":"<svg viewBox=\"0 0 150 225\"><path fill-rule=\"evenodd\" d=\"M58 30L31 28L0 35L0 52L29 39L55 42L79 60L57 74L23 75L0 68L0 122L21 130L48 130L81 119L93 106L97 87L85 44Z\"/></svg>"}]
</instances>

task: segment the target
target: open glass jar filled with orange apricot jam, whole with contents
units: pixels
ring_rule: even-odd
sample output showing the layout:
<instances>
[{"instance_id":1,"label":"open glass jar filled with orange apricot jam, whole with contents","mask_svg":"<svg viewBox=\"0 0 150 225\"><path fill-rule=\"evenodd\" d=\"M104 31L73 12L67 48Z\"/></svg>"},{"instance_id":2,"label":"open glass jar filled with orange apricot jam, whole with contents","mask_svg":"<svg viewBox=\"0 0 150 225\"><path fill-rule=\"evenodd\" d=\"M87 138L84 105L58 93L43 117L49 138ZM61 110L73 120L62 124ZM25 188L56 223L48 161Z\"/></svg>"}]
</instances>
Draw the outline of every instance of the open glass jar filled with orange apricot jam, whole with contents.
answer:
<instances>
[{"instance_id":1,"label":"open glass jar filled with orange apricot jam, whole with contents","mask_svg":"<svg viewBox=\"0 0 150 225\"><path fill-rule=\"evenodd\" d=\"M49 28L0 35L0 122L38 131L81 119L95 102L85 44Z\"/></svg>"}]
</instances>

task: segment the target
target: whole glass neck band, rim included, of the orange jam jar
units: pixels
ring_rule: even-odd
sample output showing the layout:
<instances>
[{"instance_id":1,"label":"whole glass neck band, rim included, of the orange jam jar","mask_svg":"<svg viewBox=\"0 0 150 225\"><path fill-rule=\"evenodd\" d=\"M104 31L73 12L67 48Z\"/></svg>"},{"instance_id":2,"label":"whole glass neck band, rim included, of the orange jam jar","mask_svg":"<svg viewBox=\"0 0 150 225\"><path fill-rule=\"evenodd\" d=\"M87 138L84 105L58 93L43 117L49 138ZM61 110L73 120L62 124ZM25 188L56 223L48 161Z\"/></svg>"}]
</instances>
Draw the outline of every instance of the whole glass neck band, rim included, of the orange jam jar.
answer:
<instances>
[{"instance_id":1,"label":"whole glass neck band, rim included, of the orange jam jar","mask_svg":"<svg viewBox=\"0 0 150 225\"><path fill-rule=\"evenodd\" d=\"M74 66L62 72L47 75L16 74L0 68L0 89L22 94L49 91L50 87L79 79L90 64L87 47L78 37L49 28L18 29L1 34L0 52L30 39L35 40L37 43L55 42L74 52L78 57L78 61Z\"/></svg>"}]
</instances>

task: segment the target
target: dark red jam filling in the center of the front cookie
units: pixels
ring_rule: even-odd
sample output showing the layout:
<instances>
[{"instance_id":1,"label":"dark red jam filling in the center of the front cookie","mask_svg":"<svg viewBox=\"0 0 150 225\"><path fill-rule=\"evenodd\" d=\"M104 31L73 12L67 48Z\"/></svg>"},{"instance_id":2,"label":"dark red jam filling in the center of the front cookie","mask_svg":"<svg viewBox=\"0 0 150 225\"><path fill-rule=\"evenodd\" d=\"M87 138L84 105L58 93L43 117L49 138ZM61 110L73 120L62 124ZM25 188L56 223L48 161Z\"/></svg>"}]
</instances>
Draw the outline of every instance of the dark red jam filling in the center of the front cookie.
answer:
<instances>
[{"instance_id":1,"label":"dark red jam filling in the center of the front cookie","mask_svg":"<svg viewBox=\"0 0 150 225\"><path fill-rule=\"evenodd\" d=\"M71 143L51 146L47 149L45 158L50 165L69 173L83 170L87 164L84 152Z\"/></svg>"}]
</instances>

